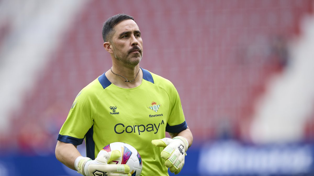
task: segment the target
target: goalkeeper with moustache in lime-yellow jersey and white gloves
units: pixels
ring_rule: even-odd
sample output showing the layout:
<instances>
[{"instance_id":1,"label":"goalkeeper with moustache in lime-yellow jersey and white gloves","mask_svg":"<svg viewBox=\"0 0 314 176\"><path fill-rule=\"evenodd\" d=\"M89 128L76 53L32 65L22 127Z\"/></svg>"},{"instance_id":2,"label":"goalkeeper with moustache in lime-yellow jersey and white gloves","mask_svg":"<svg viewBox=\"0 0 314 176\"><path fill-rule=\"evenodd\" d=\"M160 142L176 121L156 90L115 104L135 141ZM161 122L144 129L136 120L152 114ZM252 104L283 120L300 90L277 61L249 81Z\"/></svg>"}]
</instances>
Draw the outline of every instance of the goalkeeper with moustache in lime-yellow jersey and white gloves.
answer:
<instances>
[{"instance_id":1,"label":"goalkeeper with moustache in lime-yellow jersey and white gloves","mask_svg":"<svg viewBox=\"0 0 314 176\"><path fill-rule=\"evenodd\" d=\"M57 159L83 175L131 175L127 165L107 164L119 152L100 154L109 143L125 142L142 157L141 175L179 173L193 137L175 87L139 67L143 41L133 17L109 18L102 34L112 67L75 98L57 138ZM76 149L84 139L87 157Z\"/></svg>"}]
</instances>

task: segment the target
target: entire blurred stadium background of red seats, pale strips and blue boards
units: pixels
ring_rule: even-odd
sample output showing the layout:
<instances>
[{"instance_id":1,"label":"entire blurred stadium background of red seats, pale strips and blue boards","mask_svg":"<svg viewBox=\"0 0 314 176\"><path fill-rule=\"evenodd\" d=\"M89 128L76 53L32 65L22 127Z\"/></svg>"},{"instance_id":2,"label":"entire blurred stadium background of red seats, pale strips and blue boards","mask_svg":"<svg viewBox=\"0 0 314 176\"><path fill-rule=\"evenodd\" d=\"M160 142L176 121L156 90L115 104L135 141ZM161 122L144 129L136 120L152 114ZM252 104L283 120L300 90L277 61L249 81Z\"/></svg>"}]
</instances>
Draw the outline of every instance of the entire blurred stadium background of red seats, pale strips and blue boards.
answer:
<instances>
[{"instance_id":1,"label":"entire blurred stadium background of red seats, pale strips and blue boards","mask_svg":"<svg viewBox=\"0 0 314 176\"><path fill-rule=\"evenodd\" d=\"M78 175L55 158L56 138L77 93L111 66L101 27L117 13L142 32L140 66L180 94L194 142L179 175L314 175L313 7L0 1L0 175Z\"/></svg>"}]
</instances>

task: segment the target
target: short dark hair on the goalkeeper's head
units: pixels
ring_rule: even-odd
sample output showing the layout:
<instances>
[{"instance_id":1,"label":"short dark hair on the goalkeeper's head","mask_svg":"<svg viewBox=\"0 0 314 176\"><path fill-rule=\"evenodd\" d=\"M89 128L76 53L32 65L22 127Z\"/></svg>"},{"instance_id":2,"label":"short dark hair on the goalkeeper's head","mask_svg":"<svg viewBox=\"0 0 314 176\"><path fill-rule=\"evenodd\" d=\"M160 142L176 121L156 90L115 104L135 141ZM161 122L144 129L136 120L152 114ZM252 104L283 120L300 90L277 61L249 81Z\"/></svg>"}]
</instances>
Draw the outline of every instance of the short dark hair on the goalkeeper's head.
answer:
<instances>
[{"instance_id":1,"label":"short dark hair on the goalkeeper's head","mask_svg":"<svg viewBox=\"0 0 314 176\"><path fill-rule=\"evenodd\" d=\"M120 21L123 21L126 19L132 19L134 21L134 18L132 16L124 14L124 13L116 14L107 19L107 21L102 26L102 38L104 39L104 42L107 42L108 40L111 39L112 34L114 32L113 27Z\"/></svg>"}]
</instances>

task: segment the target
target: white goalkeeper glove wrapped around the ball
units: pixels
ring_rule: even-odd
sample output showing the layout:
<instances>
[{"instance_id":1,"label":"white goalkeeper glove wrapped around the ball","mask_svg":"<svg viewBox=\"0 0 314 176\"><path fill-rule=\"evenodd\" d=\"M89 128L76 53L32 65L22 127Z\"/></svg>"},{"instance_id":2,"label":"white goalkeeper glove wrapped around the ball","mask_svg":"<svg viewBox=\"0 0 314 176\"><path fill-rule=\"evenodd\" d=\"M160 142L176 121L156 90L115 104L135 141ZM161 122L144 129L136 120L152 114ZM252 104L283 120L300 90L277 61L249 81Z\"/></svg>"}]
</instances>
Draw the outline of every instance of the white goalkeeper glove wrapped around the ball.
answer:
<instances>
[{"instance_id":1,"label":"white goalkeeper glove wrapped around the ball","mask_svg":"<svg viewBox=\"0 0 314 176\"><path fill-rule=\"evenodd\" d=\"M74 167L78 173L84 176L131 176L130 167L126 164L108 164L112 160L121 157L120 151L106 152L100 150L95 160L79 156L74 161Z\"/></svg>"}]
</instances>

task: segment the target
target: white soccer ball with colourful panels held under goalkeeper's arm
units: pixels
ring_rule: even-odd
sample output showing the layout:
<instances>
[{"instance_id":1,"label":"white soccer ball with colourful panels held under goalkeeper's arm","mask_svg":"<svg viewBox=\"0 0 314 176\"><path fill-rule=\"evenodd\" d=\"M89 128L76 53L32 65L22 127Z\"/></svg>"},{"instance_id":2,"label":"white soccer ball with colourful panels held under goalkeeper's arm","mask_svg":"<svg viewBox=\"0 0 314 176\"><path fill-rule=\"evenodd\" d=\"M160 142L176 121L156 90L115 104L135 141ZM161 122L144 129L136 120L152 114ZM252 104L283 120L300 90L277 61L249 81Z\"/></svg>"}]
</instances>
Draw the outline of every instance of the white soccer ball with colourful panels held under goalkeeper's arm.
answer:
<instances>
[{"instance_id":1,"label":"white soccer ball with colourful panels held under goalkeeper's arm","mask_svg":"<svg viewBox=\"0 0 314 176\"><path fill-rule=\"evenodd\" d=\"M123 142L113 142L101 150L105 150L107 152L119 150L121 157L111 161L109 164L127 164L130 167L130 173L132 176L141 175L143 168L142 158L138 151L131 145Z\"/></svg>"}]
</instances>

